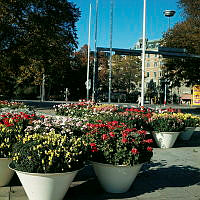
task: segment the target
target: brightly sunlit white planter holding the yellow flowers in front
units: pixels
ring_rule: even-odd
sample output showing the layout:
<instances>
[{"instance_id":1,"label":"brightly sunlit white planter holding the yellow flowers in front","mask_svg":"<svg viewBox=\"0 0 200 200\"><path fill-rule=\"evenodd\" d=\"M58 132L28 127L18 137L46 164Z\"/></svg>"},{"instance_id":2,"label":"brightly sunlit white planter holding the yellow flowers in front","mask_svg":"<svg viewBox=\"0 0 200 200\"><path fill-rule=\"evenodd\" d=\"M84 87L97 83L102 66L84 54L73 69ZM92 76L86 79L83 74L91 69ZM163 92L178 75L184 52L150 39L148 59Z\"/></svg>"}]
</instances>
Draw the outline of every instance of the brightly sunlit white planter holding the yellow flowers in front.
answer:
<instances>
[{"instance_id":1,"label":"brightly sunlit white planter holding the yellow flowers in front","mask_svg":"<svg viewBox=\"0 0 200 200\"><path fill-rule=\"evenodd\" d=\"M29 200L62 200L78 172L43 174L15 171Z\"/></svg>"}]
</instances>

